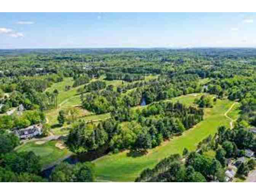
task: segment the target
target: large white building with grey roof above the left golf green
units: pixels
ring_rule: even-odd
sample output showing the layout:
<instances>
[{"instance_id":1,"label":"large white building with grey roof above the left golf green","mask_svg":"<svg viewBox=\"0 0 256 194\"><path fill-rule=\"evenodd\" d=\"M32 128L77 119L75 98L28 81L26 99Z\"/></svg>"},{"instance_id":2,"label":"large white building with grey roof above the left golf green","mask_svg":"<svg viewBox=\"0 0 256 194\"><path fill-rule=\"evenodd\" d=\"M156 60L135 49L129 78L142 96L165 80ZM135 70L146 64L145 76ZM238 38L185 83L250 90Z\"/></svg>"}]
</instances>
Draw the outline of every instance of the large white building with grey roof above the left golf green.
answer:
<instances>
[{"instance_id":1,"label":"large white building with grey roof above the left golf green","mask_svg":"<svg viewBox=\"0 0 256 194\"><path fill-rule=\"evenodd\" d=\"M15 131L15 134L20 138L20 139L28 139L28 138L33 138L37 135L42 135L42 125L32 125L29 126L25 129L19 129Z\"/></svg>"}]
</instances>

